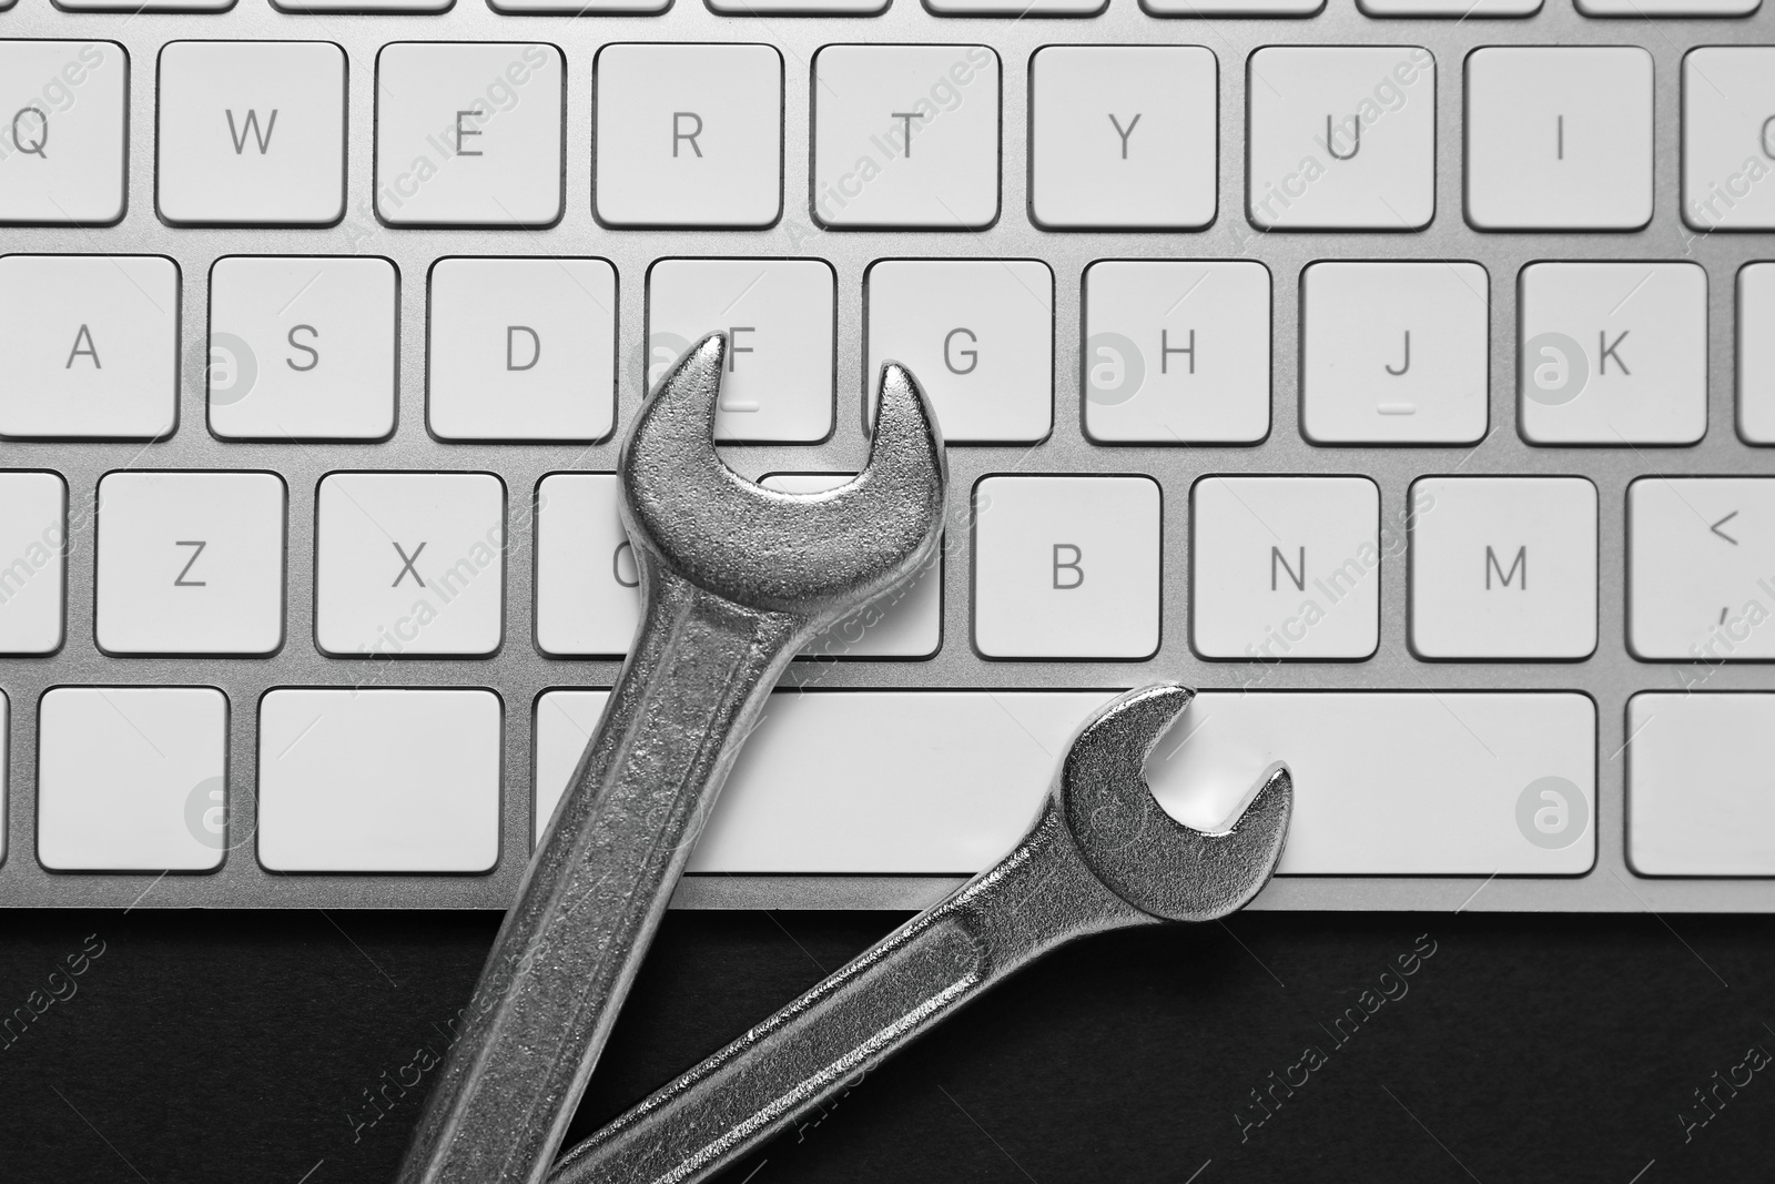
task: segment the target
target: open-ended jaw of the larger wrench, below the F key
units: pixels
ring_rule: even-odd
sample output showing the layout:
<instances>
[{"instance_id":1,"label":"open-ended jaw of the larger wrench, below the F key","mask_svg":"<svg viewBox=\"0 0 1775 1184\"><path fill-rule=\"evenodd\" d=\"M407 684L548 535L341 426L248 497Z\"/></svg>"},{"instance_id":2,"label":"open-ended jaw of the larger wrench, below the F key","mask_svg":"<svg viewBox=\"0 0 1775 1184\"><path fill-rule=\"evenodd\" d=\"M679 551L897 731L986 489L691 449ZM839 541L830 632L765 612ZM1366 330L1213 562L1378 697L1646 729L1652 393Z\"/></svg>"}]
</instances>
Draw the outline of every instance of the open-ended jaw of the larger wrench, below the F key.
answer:
<instances>
[{"instance_id":1,"label":"open-ended jaw of the larger wrench, below the F key","mask_svg":"<svg viewBox=\"0 0 1775 1184\"><path fill-rule=\"evenodd\" d=\"M943 435L912 375L888 362L863 472L822 493L765 490L715 453L726 351L724 334L703 337L641 405L618 462L623 524L659 573L790 614L811 637L935 554L948 490Z\"/></svg>"}]
</instances>

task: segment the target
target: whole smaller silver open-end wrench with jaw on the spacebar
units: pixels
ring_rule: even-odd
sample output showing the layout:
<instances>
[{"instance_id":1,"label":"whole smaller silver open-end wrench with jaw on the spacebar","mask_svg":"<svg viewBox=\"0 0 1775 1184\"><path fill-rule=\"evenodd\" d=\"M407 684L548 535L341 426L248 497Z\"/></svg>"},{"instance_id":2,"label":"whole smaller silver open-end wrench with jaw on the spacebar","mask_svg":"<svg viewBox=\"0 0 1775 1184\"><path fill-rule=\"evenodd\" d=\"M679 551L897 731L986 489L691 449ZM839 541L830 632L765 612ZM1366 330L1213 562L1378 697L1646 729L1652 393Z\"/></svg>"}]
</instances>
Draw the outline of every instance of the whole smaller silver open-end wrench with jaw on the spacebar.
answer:
<instances>
[{"instance_id":1,"label":"whole smaller silver open-end wrench with jaw on the spacebar","mask_svg":"<svg viewBox=\"0 0 1775 1184\"><path fill-rule=\"evenodd\" d=\"M1294 785L1271 765L1219 834L1172 820L1141 765L1193 694L1161 683L1097 712L998 866L588 1138L548 1184L701 1180L1049 950L1251 900L1282 857Z\"/></svg>"}]
</instances>

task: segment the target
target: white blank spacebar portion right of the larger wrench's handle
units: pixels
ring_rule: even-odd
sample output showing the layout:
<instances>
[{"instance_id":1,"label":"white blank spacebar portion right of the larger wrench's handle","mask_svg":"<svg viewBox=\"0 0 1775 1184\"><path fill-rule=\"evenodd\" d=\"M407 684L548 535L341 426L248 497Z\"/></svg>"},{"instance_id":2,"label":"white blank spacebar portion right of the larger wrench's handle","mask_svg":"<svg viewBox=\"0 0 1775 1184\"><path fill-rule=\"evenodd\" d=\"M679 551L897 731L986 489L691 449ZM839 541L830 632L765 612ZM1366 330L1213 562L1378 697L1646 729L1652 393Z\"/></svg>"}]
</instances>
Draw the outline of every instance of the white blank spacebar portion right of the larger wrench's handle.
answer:
<instances>
[{"instance_id":1,"label":"white blank spacebar portion right of the larger wrench's handle","mask_svg":"<svg viewBox=\"0 0 1775 1184\"><path fill-rule=\"evenodd\" d=\"M1022 836L1111 692L777 692L690 872L958 875ZM1596 708L1546 692L1203 692L1147 767L1216 827L1294 772L1283 875L1574 875L1596 856Z\"/></svg>"}]
</instances>

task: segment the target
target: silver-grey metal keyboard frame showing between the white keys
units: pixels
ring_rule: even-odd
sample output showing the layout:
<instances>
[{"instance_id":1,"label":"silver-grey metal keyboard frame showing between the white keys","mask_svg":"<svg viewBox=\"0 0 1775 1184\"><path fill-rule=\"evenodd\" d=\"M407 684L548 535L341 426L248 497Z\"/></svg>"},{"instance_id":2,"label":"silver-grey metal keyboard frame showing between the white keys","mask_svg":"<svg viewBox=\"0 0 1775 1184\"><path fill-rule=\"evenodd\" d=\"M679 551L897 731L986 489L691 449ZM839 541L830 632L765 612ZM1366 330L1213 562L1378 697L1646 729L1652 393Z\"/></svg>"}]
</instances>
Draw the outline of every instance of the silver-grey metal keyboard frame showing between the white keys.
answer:
<instances>
[{"instance_id":1,"label":"silver-grey metal keyboard frame showing between the white keys","mask_svg":"<svg viewBox=\"0 0 1775 1184\"><path fill-rule=\"evenodd\" d=\"M1164 486L1163 644L1147 662L989 662L971 644L971 563L966 529L950 533L944 561L944 643L927 662L797 664L785 685L820 687L1131 687L1180 678L1200 687L1239 687L1266 675L1264 689L1399 691L1582 691L1598 706L1596 864L1571 879L1514 877L1285 877L1258 909L1427 911L1775 911L1775 880L1663 880L1637 877L1624 857L1626 701L1637 691L1677 691L1672 664L1637 662L1624 644L1626 485L1642 474L1775 474L1775 453L1736 433L1736 272L1775 257L1775 234L1699 236L1679 208L1681 57L1692 46L1775 43L1775 5L1745 20L1590 20L1573 0L1546 0L1526 20L1370 20L1354 0L1329 0L1315 18L1172 20L1145 14L1136 0L1109 0L1095 18L937 18L918 0L893 0L882 16L735 18L701 0L676 0L664 16L502 16L483 0L456 0L440 16L296 16L266 0L240 0L224 14L83 14L48 0L20 0L0 12L0 37L110 39L130 51L128 211L103 229L0 227L5 252L156 252L179 263L186 359L179 428L156 444L0 444L0 467L53 469L67 479L67 637L48 659L0 660L11 699L5 861L0 905L62 907L373 907L504 909L531 850L531 733L534 699L552 687L607 687L618 664L545 659L532 644L532 600L524 572L531 538L518 511L536 481L568 469L611 470L616 444L442 444L424 424L426 279L444 256L602 256L619 275L621 362L618 422L641 399L634 359L643 337L648 264L664 256L818 256L838 270L836 431L816 447L733 447L747 476L774 470L843 470L864 456L863 272L880 257L999 256L1045 259L1054 270L1054 430L1035 447L950 451L957 520L976 479L994 472L1148 472ZM154 213L156 53L176 39L327 39L348 53L348 217L330 229L170 227ZM559 224L538 231L390 229L369 213L371 110L376 50L390 41L547 41L566 55L566 190ZM785 217L769 231L612 231L591 215L591 64L611 41L765 41L781 48L786 71ZM808 211L809 60L822 44L845 41L985 43L1003 69L1001 209L982 233L831 231ZM1219 215L1202 233L1045 233L1028 217L1028 60L1044 44L1205 44L1219 60ZM1271 233L1244 217L1246 59L1264 44L1422 44L1438 64L1436 218L1422 233ZM1484 44L1640 44L1656 60L1656 211L1647 229L1615 234L1482 234L1461 202L1463 62ZM206 430L204 391L190 359L202 357L209 264L225 254L380 254L399 268L399 426L383 444L234 444ZM1099 446L1081 428L1081 273L1106 257L1255 257L1273 275L1273 426L1255 447ZM1315 447L1298 419L1299 272L1314 259L1475 259L1491 275L1491 435L1479 447ZM1693 447L1530 447L1516 431L1516 275L1535 259L1695 259L1709 279L1708 435ZM288 623L270 659L114 659L92 637L92 499L114 469L264 469L289 485ZM62 683L204 683L231 703L229 785L233 843L254 827L254 767L259 696L282 685L351 685L371 678L364 662L321 657L312 643L314 488L341 469L486 470L504 478L513 515L508 564L506 639L486 660L412 660L375 678L380 685L493 687L504 698L504 797L501 857L486 875L273 875L250 841L204 875L51 873L36 859L37 699ZM1202 474L1365 474L1381 486L1383 515L1397 515L1406 488L1424 474L1582 474L1599 493L1599 646L1585 662L1420 662L1406 644L1406 559L1381 568L1381 646L1369 662L1305 662L1273 669L1205 662L1189 651L1189 485ZM399 682L394 682L394 680ZM1775 685L1770 666L1711 671L1706 689ZM1425 777L1434 777L1425 769ZM944 877L689 877L676 904L689 907L916 909L960 879Z\"/></svg>"}]
</instances>

